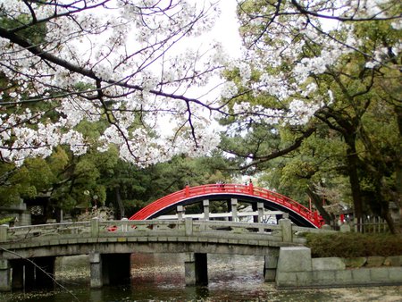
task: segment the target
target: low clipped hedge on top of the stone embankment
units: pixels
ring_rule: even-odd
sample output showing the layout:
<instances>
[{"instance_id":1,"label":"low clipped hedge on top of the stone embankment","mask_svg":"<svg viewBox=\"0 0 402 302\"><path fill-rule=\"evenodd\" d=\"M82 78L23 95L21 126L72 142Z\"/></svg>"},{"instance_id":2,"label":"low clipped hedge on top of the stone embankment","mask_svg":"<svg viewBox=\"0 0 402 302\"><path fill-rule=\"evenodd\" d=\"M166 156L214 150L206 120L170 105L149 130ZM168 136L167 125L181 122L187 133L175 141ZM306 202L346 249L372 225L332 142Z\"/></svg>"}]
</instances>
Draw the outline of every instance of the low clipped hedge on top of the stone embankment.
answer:
<instances>
[{"instance_id":1,"label":"low clipped hedge on top of the stone embankment","mask_svg":"<svg viewBox=\"0 0 402 302\"><path fill-rule=\"evenodd\" d=\"M313 257L360 257L402 255L402 236L391 234L307 234L306 246Z\"/></svg>"}]
</instances>

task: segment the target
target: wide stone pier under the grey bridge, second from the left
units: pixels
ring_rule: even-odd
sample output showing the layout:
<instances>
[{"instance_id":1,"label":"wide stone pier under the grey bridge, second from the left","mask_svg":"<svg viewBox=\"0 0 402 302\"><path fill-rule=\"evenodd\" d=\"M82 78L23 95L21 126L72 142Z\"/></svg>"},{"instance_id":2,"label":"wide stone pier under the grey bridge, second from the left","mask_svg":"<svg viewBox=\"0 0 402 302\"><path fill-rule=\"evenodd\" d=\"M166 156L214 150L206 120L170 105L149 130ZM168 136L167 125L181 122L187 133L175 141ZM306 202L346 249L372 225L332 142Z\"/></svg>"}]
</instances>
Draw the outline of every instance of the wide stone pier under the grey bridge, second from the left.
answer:
<instances>
[{"instance_id":1,"label":"wide stone pier under the grey bridge, second from the left","mask_svg":"<svg viewBox=\"0 0 402 302\"><path fill-rule=\"evenodd\" d=\"M104 285L115 285L130 281L130 254L89 255L91 288L99 289Z\"/></svg>"}]
</instances>

